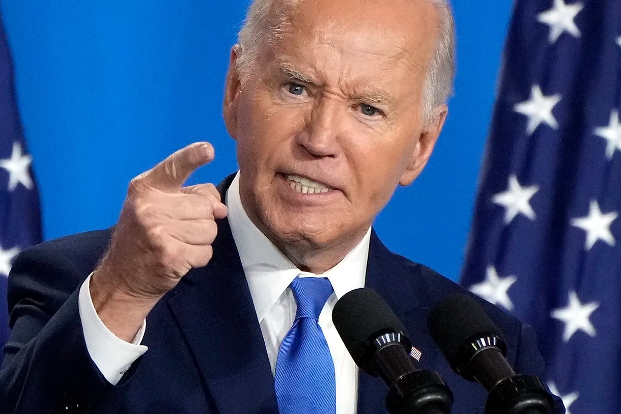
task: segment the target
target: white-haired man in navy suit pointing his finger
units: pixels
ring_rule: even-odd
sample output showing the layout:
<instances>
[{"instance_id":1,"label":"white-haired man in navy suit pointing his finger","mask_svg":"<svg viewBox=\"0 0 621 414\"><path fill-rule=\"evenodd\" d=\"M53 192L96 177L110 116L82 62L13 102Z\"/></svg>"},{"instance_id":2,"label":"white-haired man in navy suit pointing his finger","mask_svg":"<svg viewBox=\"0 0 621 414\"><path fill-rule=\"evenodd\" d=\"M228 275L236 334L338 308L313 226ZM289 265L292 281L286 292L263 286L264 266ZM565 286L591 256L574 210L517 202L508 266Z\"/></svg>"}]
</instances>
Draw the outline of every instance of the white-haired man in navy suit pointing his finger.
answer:
<instances>
[{"instance_id":1,"label":"white-haired man in navy suit pointing his finger","mask_svg":"<svg viewBox=\"0 0 621 414\"><path fill-rule=\"evenodd\" d=\"M371 229L432 153L452 44L441 0L256 0L224 98L240 171L183 187L214 157L189 145L132 180L114 229L20 255L2 412L382 412L386 388L358 372L330 321L365 285L444 375L453 412L482 412L483 389L425 329L428 308L461 288ZM510 361L541 374L532 331L486 310Z\"/></svg>"}]
</instances>

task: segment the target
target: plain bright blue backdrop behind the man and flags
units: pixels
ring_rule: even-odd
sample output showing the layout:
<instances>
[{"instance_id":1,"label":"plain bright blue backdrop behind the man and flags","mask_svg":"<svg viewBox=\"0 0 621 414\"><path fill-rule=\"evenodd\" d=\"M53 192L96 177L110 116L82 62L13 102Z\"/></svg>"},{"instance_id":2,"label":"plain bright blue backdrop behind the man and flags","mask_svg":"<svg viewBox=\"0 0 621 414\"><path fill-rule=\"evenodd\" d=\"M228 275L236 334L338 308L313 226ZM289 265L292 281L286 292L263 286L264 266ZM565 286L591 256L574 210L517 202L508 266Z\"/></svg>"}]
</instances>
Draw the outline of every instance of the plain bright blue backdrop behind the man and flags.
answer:
<instances>
[{"instance_id":1,"label":"plain bright blue backdrop behind the man and flags","mask_svg":"<svg viewBox=\"0 0 621 414\"><path fill-rule=\"evenodd\" d=\"M209 140L192 182L235 170L221 117L248 0L2 0L46 239L105 228L129 180ZM456 1L458 78L427 170L376 221L389 248L458 277L509 22L509 0Z\"/></svg>"}]
</instances>

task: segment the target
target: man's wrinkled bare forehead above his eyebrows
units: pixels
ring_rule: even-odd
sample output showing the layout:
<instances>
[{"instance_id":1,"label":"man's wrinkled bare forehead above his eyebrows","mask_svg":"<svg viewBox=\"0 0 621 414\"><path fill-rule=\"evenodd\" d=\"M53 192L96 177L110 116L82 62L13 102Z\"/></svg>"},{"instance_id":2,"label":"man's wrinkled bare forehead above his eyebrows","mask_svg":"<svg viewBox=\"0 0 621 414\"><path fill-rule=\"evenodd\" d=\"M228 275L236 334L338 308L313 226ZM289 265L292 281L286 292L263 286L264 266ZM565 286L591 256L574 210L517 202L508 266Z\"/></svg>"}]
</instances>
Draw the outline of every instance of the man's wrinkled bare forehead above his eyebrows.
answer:
<instances>
[{"instance_id":1,"label":"man's wrinkled bare forehead above his eyebrows","mask_svg":"<svg viewBox=\"0 0 621 414\"><path fill-rule=\"evenodd\" d=\"M267 47L330 45L338 52L402 59L425 71L438 36L430 0L274 0Z\"/></svg>"}]
</instances>

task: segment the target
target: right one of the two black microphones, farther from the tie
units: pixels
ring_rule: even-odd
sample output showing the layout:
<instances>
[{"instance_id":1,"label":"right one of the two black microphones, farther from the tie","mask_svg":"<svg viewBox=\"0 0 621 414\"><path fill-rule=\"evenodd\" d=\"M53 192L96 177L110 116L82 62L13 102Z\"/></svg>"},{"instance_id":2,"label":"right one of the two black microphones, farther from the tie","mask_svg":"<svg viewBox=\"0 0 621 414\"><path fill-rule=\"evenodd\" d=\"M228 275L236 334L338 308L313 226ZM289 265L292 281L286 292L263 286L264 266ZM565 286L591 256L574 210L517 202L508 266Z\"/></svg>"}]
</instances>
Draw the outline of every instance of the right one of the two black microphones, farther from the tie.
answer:
<instances>
[{"instance_id":1,"label":"right one of the two black microphones, farther from the tie","mask_svg":"<svg viewBox=\"0 0 621 414\"><path fill-rule=\"evenodd\" d=\"M427 327L451 368L489 392L486 414L551 414L553 400L541 380L515 374L499 329L476 300L455 294L439 301Z\"/></svg>"}]
</instances>

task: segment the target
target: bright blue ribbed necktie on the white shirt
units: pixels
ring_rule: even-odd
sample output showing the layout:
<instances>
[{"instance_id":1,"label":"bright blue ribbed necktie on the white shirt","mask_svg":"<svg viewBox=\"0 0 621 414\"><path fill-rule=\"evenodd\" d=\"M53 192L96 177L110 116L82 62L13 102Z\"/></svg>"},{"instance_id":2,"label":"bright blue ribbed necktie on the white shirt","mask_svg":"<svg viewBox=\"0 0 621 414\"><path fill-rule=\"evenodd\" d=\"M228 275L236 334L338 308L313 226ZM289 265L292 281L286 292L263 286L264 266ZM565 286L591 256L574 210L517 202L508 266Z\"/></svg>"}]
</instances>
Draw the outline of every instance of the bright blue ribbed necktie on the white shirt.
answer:
<instances>
[{"instance_id":1,"label":"bright blue ribbed necktie on the white shirt","mask_svg":"<svg viewBox=\"0 0 621 414\"><path fill-rule=\"evenodd\" d=\"M327 278L291 282L297 313L276 359L276 398L280 414L335 414L334 362L319 327L319 314L332 295Z\"/></svg>"}]
</instances>

